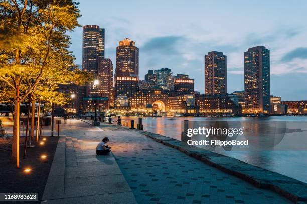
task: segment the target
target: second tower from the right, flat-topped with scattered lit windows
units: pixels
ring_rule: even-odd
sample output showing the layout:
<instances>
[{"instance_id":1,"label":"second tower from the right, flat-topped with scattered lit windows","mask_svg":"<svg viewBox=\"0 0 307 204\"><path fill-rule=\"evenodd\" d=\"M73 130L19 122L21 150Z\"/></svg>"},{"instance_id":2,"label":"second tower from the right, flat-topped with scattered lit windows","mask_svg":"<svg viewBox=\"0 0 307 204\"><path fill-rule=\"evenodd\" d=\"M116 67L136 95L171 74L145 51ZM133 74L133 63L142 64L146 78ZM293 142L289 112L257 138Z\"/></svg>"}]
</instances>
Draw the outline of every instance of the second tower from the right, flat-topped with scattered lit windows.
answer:
<instances>
[{"instance_id":1,"label":"second tower from the right, flat-topped with scattered lit windows","mask_svg":"<svg viewBox=\"0 0 307 204\"><path fill-rule=\"evenodd\" d=\"M227 57L223 52L211 51L205 56L205 94L227 93Z\"/></svg>"}]
</instances>

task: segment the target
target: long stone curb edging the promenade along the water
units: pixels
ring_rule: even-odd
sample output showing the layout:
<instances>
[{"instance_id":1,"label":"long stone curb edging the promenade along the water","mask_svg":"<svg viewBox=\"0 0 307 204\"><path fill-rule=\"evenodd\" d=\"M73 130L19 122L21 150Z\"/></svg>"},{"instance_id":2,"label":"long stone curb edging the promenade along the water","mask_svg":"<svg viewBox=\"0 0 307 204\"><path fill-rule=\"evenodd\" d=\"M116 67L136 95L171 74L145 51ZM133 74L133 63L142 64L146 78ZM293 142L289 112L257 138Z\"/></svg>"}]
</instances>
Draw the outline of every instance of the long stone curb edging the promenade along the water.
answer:
<instances>
[{"instance_id":1,"label":"long stone curb edging the promenade along the water","mask_svg":"<svg viewBox=\"0 0 307 204\"><path fill-rule=\"evenodd\" d=\"M84 121L82 119L80 120L88 123L87 121ZM103 124L107 125L108 123ZM108 125L117 126L115 124ZM185 153L186 155L200 160L212 167L215 167L230 175L234 175L240 179L243 179L256 187L272 190L280 194L281 196L286 197L287 199L299 204L307 203L306 183L287 177L285 175L281 175L279 173L253 166L235 158L201 149L196 146L187 145L184 142L160 134L136 129L135 131L166 146L175 148Z\"/></svg>"}]
</instances>

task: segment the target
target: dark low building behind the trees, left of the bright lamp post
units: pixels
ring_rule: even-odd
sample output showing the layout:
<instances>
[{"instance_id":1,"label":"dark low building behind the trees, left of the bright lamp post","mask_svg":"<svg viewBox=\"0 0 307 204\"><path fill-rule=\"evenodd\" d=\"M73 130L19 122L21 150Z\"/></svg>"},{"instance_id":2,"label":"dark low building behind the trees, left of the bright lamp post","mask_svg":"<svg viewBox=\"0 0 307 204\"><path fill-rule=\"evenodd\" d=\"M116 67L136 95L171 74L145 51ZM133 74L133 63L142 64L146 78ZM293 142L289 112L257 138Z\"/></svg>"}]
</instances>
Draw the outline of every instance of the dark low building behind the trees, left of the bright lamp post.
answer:
<instances>
[{"instance_id":1,"label":"dark low building behind the trees, left of the bright lamp post","mask_svg":"<svg viewBox=\"0 0 307 204\"><path fill-rule=\"evenodd\" d=\"M55 108L64 108L64 110L68 113L78 113L85 109L83 98L86 95L86 86L76 84L59 84L58 91L63 93L64 96L68 98L68 101L65 105L56 105ZM73 98L72 95L74 95Z\"/></svg>"}]
</instances>

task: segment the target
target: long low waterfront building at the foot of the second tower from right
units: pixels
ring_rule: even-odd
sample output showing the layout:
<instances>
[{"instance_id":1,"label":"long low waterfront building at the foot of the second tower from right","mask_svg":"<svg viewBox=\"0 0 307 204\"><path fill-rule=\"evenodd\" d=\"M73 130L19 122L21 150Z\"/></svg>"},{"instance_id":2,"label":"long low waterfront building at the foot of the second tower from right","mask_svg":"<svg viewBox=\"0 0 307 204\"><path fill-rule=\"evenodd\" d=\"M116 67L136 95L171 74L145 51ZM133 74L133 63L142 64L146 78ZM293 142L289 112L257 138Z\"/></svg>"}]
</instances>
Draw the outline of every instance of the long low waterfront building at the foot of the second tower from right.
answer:
<instances>
[{"instance_id":1,"label":"long low waterfront building at the foot of the second tower from right","mask_svg":"<svg viewBox=\"0 0 307 204\"><path fill-rule=\"evenodd\" d=\"M196 97L199 112L204 115L241 114L241 106L236 105L228 95L199 95Z\"/></svg>"}]
</instances>

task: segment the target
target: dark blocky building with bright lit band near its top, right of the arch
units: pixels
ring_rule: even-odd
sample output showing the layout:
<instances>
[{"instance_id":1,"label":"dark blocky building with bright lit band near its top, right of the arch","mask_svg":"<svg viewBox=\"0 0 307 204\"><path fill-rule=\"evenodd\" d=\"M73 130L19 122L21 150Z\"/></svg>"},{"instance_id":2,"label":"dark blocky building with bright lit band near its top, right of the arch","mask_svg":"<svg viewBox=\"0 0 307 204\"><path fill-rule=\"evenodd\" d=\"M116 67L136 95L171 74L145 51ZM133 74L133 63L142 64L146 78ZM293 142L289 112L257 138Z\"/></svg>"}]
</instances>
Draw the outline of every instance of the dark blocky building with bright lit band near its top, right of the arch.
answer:
<instances>
[{"instance_id":1,"label":"dark blocky building with bright lit band near its top, right of the arch","mask_svg":"<svg viewBox=\"0 0 307 204\"><path fill-rule=\"evenodd\" d=\"M177 74L173 77L173 96L194 94L194 79L190 79L188 75Z\"/></svg>"}]
</instances>

